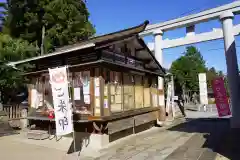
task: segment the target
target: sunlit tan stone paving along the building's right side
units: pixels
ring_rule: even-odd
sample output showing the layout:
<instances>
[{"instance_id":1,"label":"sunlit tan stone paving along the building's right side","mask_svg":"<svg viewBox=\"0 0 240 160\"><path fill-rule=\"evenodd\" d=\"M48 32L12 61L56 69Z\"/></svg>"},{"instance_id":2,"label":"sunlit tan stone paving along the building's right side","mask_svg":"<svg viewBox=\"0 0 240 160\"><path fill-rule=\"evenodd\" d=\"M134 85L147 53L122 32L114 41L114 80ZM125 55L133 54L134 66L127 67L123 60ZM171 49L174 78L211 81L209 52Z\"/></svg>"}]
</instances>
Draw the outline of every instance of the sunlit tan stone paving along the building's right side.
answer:
<instances>
[{"instance_id":1,"label":"sunlit tan stone paving along the building's right side","mask_svg":"<svg viewBox=\"0 0 240 160\"><path fill-rule=\"evenodd\" d=\"M121 140L119 144L106 149L106 154L96 160L165 159L192 135L192 133L158 129L154 133Z\"/></svg>"}]
</instances>

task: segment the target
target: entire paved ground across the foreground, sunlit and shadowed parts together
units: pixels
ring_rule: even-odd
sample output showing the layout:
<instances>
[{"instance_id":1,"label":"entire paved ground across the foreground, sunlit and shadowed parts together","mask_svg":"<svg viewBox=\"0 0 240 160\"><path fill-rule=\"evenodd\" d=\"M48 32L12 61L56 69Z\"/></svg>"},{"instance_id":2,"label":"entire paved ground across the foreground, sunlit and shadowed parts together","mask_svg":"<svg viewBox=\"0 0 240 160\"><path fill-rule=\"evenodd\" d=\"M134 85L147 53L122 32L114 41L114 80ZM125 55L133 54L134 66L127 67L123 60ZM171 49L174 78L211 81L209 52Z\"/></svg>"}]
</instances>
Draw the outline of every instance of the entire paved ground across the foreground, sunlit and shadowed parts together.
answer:
<instances>
[{"instance_id":1,"label":"entire paved ground across the foreground, sunlit and shadowed parts together","mask_svg":"<svg viewBox=\"0 0 240 160\"><path fill-rule=\"evenodd\" d=\"M17 140L17 136L0 137L0 159L6 160L224 160L239 159L240 148L232 147L228 138L228 119L216 119L216 112L187 112L188 119L168 128L153 128L111 144L98 158L66 155L57 147L39 146ZM212 117L212 118L203 118ZM14 138L15 137L15 138ZM239 144L238 143L238 144ZM222 147L224 146L224 147ZM239 149L239 150L238 150ZM94 154L94 153L93 153ZM216 158L217 157L217 158Z\"/></svg>"}]
</instances>

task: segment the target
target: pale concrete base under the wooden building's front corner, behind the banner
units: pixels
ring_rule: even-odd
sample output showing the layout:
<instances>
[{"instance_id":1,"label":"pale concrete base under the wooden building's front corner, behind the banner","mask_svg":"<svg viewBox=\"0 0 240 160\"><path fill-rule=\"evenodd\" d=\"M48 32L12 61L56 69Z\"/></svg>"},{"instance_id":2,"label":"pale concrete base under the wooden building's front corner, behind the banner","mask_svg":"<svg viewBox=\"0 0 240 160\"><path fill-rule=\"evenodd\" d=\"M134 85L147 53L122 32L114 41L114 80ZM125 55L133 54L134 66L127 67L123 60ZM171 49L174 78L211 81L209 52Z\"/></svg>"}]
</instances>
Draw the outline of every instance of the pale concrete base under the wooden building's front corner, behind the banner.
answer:
<instances>
[{"instance_id":1,"label":"pale concrete base under the wooden building's front corner, behind the banner","mask_svg":"<svg viewBox=\"0 0 240 160\"><path fill-rule=\"evenodd\" d=\"M27 133L22 132L22 134L12 136L11 138L21 143L57 149L65 152L66 154L78 153L87 157L100 156L100 150L109 143L108 135L88 134L81 132L75 133L75 147L72 134L64 137L55 137L52 135L45 140L33 140L27 138Z\"/></svg>"}]
</instances>

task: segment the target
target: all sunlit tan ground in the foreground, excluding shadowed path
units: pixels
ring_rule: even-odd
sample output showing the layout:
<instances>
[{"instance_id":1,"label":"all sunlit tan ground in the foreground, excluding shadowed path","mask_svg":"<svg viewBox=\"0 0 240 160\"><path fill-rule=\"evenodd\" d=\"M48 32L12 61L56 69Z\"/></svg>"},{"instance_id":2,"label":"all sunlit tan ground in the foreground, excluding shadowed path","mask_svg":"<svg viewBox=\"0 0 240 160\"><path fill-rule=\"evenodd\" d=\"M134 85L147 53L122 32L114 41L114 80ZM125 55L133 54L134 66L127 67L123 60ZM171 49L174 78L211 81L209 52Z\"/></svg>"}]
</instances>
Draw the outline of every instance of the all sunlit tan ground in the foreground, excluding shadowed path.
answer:
<instances>
[{"instance_id":1,"label":"all sunlit tan ground in the foreground, excluding shadowed path","mask_svg":"<svg viewBox=\"0 0 240 160\"><path fill-rule=\"evenodd\" d=\"M101 151L101 156L97 159L154 159L156 157L159 159L159 156L164 159L176 148L184 144L191 135L191 133L168 131L165 127L155 127L138 135L129 136L113 142ZM22 135L2 136L0 137L0 159L95 159L93 158L94 156L86 157L80 155L80 157L78 157L77 154L66 155L66 152L64 152L60 146L53 148L53 145L50 143L46 145L46 141L34 144L34 140L28 140L26 137L23 138Z\"/></svg>"}]
</instances>

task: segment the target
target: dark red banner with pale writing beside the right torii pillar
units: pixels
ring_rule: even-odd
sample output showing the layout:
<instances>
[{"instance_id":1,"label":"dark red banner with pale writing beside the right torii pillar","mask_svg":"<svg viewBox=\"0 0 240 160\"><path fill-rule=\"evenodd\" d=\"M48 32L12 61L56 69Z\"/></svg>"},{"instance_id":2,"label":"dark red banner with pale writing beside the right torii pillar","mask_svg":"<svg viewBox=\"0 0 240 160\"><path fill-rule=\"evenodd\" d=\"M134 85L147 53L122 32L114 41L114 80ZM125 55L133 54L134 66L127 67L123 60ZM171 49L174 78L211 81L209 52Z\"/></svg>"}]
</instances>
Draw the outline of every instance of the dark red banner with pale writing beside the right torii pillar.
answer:
<instances>
[{"instance_id":1,"label":"dark red banner with pale writing beside the right torii pillar","mask_svg":"<svg viewBox=\"0 0 240 160\"><path fill-rule=\"evenodd\" d=\"M212 88L219 117L231 115L223 77L214 79L212 82Z\"/></svg>"}]
</instances>

